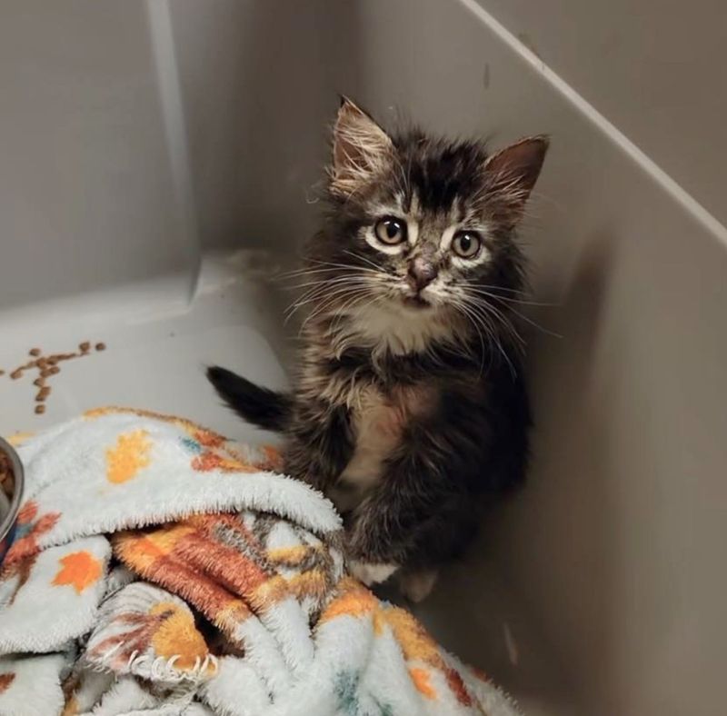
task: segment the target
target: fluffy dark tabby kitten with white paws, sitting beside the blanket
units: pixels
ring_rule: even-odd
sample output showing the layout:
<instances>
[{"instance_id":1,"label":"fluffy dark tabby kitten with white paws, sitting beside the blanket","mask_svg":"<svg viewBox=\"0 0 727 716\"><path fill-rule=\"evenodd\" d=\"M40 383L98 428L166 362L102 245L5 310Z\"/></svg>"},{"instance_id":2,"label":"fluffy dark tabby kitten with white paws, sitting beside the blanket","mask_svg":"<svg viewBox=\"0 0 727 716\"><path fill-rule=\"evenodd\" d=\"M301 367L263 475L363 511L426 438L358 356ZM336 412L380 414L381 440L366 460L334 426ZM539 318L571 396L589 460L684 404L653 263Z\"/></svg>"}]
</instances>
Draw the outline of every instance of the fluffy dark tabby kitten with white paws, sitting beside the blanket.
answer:
<instances>
[{"instance_id":1,"label":"fluffy dark tabby kitten with white paws, sitting beside the blanket","mask_svg":"<svg viewBox=\"0 0 727 716\"><path fill-rule=\"evenodd\" d=\"M286 472L344 514L354 573L371 584L398 572L413 600L472 539L478 498L523 480L513 230L547 146L536 136L490 155L391 135L344 100L329 211L305 253L293 390L208 372L244 419L284 433Z\"/></svg>"}]
</instances>

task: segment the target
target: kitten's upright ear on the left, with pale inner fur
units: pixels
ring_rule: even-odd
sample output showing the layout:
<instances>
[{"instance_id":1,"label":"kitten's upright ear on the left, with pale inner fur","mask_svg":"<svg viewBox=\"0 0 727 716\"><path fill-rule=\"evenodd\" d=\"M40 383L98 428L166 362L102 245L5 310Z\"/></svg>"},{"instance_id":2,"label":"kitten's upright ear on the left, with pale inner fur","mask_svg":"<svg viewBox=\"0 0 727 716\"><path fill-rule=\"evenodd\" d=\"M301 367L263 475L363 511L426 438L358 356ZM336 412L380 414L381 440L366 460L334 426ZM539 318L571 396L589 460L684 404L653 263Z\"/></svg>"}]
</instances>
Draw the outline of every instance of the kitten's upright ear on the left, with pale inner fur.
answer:
<instances>
[{"instance_id":1,"label":"kitten's upright ear on the left, with pale inner fur","mask_svg":"<svg viewBox=\"0 0 727 716\"><path fill-rule=\"evenodd\" d=\"M393 143L373 119L342 97L334 124L331 190L349 196L373 175L390 166Z\"/></svg>"}]
</instances>

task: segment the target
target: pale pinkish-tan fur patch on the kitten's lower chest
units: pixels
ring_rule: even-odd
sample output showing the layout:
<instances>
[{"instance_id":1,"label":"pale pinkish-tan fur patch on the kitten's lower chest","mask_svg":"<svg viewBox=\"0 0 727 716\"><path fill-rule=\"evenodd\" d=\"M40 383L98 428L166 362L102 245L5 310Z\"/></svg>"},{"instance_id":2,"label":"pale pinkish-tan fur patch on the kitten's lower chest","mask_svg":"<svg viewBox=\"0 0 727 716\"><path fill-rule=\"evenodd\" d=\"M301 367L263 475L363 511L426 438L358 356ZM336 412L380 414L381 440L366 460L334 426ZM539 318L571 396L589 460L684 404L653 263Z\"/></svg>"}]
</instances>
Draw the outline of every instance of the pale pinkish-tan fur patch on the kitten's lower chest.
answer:
<instances>
[{"instance_id":1,"label":"pale pinkish-tan fur patch on the kitten's lower chest","mask_svg":"<svg viewBox=\"0 0 727 716\"><path fill-rule=\"evenodd\" d=\"M331 492L341 512L352 510L382 480L385 462L401 448L408 426L432 413L436 390L424 382L384 390L354 381L347 403L354 451Z\"/></svg>"}]
</instances>

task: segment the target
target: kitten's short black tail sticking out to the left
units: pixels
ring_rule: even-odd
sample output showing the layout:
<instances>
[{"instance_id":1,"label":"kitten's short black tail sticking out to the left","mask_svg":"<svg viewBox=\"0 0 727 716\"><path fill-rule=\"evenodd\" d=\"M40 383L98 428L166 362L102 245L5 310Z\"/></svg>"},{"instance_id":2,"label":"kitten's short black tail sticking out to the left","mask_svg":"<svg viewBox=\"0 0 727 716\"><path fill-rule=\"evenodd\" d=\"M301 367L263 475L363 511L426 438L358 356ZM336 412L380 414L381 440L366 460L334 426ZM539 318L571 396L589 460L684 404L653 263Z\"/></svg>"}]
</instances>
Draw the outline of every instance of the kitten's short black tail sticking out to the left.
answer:
<instances>
[{"instance_id":1,"label":"kitten's short black tail sticking out to the left","mask_svg":"<svg viewBox=\"0 0 727 716\"><path fill-rule=\"evenodd\" d=\"M207 380L243 420L264 430L284 431L293 410L293 400L288 393L261 388L217 365L207 368Z\"/></svg>"}]
</instances>

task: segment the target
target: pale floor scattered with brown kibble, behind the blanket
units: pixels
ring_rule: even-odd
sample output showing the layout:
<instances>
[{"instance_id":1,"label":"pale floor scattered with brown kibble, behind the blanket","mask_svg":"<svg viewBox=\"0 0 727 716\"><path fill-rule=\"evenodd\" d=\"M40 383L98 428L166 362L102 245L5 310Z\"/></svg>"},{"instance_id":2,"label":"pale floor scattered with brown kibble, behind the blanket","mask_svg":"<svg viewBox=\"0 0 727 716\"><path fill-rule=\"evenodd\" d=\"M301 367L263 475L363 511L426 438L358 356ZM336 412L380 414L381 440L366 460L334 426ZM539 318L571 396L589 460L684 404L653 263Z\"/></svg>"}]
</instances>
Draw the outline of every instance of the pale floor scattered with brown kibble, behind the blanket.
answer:
<instances>
[{"instance_id":1,"label":"pale floor scattered with brown kibble, behind the blanket","mask_svg":"<svg viewBox=\"0 0 727 716\"><path fill-rule=\"evenodd\" d=\"M279 355L264 336L281 335L280 307L256 268L255 254L210 257L193 292L187 276L123 286L104 293L0 313L0 433L35 431L101 405L144 407L188 415L241 439L254 431L225 410L204 378L204 366L220 363L250 378L283 386ZM189 293L193 293L191 298ZM19 380L9 373L44 354L103 342L103 353L60 363L51 376L46 412L35 414L37 373Z\"/></svg>"}]
</instances>

